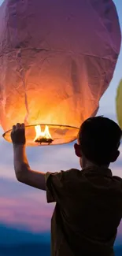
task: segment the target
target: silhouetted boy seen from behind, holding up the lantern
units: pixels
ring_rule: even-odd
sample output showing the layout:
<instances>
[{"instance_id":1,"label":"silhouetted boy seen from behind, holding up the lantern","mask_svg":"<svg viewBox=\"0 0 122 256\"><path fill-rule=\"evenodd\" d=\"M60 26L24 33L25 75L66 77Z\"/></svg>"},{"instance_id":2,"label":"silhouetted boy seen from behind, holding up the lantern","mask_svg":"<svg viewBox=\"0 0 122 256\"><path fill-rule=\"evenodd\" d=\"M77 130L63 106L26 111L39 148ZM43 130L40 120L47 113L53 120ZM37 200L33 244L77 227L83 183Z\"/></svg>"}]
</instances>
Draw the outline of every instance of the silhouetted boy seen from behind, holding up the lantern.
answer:
<instances>
[{"instance_id":1,"label":"silhouetted boy seen from behind, holding up the lantern","mask_svg":"<svg viewBox=\"0 0 122 256\"><path fill-rule=\"evenodd\" d=\"M47 202L57 202L51 220L52 256L113 255L122 217L122 180L113 176L109 164L120 154L121 135L108 118L89 118L74 146L83 170L37 173L26 157L24 124L13 126L17 180L46 191Z\"/></svg>"}]
</instances>

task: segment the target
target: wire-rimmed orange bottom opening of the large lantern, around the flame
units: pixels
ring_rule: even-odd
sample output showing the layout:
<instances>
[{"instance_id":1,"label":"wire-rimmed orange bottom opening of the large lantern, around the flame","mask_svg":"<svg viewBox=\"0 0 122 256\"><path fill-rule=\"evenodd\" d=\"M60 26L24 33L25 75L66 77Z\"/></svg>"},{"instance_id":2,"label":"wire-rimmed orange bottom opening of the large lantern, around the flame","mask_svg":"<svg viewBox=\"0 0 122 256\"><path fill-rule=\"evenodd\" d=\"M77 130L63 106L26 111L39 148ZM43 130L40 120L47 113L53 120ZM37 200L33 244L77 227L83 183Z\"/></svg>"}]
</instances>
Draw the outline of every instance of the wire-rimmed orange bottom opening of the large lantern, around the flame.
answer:
<instances>
[{"instance_id":1,"label":"wire-rimmed orange bottom opening of the large lantern, around the flame","mask_svg":"<svg viewBox=\"0 0 122 256\"><path fill-rule=\"evenodd\" d=\"M41 130L44 131L46 126L49 128L49 132L52 139L46 139L42 137L40 141L35 141L35 127L37 125L41 126ZM7 142L12 143L11 140L12 129L3 133L2 137L6 139ZM31 147L37 146L53 146L61 145L66 143L72 143L77 139L79 133L79 128L70 126L70 125L61 125L61 124L31 124L25 126L25 136L26 136L26 145Z\"/></svg>"}]
</instances>

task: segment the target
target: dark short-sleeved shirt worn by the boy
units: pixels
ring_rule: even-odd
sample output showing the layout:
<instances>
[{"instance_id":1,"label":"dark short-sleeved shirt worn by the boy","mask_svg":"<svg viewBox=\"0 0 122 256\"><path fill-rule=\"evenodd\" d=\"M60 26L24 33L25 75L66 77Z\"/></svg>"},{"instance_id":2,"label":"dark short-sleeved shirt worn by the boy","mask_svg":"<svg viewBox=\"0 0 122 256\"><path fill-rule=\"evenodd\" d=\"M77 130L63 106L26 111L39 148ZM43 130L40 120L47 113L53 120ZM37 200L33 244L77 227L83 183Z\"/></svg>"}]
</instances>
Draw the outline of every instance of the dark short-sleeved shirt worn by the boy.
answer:
<instances>
[{"instance_id":1,"label":"dark short-sleeved shirt worn by the boy","mask_svg":"<svg viewBox=\"0 0 122 256\"><path fill-rule=\"evenodd\" d=\"M109 256L122 217L122 180L110 169L46 173L52 256Z\"/></svg>"}]
</instances>

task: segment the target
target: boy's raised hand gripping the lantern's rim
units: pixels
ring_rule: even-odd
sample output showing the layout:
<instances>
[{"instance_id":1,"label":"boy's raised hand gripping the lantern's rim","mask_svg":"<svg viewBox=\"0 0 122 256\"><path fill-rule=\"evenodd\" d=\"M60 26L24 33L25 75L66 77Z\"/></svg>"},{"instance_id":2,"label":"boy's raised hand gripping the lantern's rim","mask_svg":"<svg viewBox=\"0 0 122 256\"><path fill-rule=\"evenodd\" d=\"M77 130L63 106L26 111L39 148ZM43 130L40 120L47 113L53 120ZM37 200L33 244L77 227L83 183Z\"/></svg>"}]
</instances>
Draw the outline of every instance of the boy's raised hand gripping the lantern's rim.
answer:
<instances>
[{"instance_id":1,"label":"boy's raised hand gripping the lantern's rim","mask_svg":"<svg viewBox=\"0 0 122 256\"><path fill-rule=\"evenodd\" d=\"M24 145L26 143L24 124L13 125L11 139L14 145Z\"/></svg>"}]
</instances>

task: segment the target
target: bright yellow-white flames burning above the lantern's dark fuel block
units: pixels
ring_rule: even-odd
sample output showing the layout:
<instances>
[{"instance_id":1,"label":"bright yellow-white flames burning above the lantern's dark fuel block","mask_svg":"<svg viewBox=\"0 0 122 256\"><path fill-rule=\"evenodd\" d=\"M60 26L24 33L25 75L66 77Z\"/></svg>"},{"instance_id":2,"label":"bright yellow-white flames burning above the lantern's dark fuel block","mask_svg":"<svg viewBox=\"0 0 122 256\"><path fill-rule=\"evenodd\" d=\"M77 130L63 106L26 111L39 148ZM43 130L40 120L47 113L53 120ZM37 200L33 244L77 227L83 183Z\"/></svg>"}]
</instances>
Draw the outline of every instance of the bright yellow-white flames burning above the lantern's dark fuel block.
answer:
<instances>
[{"instance_id":1,"label":"bright yellow-white flames burning above the lantern's dark fuel block","mask_svg":"<svg viewBox=\"0 0 122 256\"><path fill-rule=\"evenodd\" d=\"M36 141L38 142L39 139L52 139L47 125L44 132L42 132L41 130L41 125L36 125L35 132L36 132L35 139L34 139L35 142Z\"/></svg>"}]
</instances>

